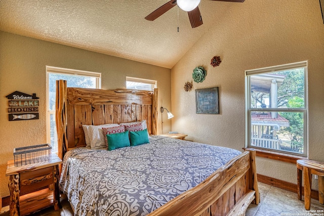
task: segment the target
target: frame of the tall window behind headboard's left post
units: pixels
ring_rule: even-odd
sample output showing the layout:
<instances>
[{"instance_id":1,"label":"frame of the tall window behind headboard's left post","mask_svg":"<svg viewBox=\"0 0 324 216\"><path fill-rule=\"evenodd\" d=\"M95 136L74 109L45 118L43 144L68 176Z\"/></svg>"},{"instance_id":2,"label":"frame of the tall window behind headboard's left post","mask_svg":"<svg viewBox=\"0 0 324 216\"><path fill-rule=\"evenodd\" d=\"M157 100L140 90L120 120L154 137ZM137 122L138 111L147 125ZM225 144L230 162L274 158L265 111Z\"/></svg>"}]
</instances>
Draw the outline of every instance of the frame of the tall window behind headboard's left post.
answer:
<instances>
[{"instance_id":1,"label":"frame of the tall window behind headboard's left post","mask_svg":"<svg viewBox=\"0 0 324 216\"><path fill-rule=\"evenodd\" d=\"M46 141L51 144L51 115L54 114L55 110L50 110L49 107L49 74L66 74L66 75L75 75L75 76L90 76L96 78L96 88L101 89L101 73L84 71L84 70L75 70L68 68L60 68L46 65Z\"/></svg>"}]
</instances>

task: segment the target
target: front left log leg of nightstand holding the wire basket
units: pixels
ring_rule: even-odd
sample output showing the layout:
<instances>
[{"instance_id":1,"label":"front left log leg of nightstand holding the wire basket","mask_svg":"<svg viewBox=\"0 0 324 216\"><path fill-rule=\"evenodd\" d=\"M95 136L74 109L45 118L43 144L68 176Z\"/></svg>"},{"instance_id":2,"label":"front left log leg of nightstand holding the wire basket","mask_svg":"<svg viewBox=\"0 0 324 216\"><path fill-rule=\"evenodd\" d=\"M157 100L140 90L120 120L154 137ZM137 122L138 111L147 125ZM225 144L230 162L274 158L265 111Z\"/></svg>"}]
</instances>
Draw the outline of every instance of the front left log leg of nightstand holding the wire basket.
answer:
<instances>
[{"instance_id":1,"label":"front left log leg of nightstand holding the wire basket","mask_svg":"<svg viewBox=\"0 0 324 216\"><path fill-rule=\"evenodd\" d=\"M19 213L19 174L11 175L9 179L10 190L10 216L18 216Z\"/></svg>"}]
</instances>

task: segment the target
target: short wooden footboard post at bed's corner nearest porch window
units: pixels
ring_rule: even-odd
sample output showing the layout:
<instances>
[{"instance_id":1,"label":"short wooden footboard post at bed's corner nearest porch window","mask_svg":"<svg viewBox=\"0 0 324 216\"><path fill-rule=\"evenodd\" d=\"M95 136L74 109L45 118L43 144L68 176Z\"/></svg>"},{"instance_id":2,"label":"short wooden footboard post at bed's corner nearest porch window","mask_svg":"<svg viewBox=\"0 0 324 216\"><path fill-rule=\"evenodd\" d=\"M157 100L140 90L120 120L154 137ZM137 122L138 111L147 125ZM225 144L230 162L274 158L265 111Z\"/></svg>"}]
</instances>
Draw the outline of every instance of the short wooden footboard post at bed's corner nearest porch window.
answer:
<instances>
[{"instance_id":1,"label":"short wooden footboard post at bed's corner nearest porch window","mask_svg":"<svg viewBox=\"0 0 324 216\"><path fill-rule=\"evenodd\" d=\"M250 152L250 169L249 169L249 189L255 191L254 204L259 204L260 193L258 188L257 167L255 162L256 151L255 149L247 149Z\"/></svg>"}]
</instances>

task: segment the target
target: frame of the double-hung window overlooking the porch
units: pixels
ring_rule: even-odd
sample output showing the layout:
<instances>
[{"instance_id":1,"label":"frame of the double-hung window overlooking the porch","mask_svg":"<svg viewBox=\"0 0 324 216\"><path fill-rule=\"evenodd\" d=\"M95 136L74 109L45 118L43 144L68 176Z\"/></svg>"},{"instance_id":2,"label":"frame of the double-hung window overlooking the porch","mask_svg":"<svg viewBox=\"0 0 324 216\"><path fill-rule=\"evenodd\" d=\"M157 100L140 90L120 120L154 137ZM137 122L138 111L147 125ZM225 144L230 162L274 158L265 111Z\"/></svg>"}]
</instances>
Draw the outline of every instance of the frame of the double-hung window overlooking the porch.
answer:
<instances>
[{"instance_id":1,"label":"frame of the double-hung window overlooking the porch","mask_svg":"<svg viewBox=\"0 0 324 216\"><path fill-rule=\"evenodd\" d=\"M262 152L271 152L277 155L292 155L294 156L301 156L307 157L308 155L308 81L307 81L307 61L285 64L285 65L278 65L273 67L266 67L266 68L259 68L253 70L246 70L245 71L245 93L246 93L246 147L247 148L254 148L260 149ZM293 70L304 68L304 107L303 108L251 108L251 76L257 74L266 74L271 72L277 71L284 71L284 70ZM297 152L289 152L289 151L282 151L282 150L275 150L269 148L262 148L258 146L251 145L251 132L252 132L252 120L251 120L251 113L256 111L263 111L263 112L300 112L303 113L304 116L304 123L303 123L303 133L304 133L304 152L297 153ZM280 156L279 156L280 157Z\"/></svg>"}]
</instances>

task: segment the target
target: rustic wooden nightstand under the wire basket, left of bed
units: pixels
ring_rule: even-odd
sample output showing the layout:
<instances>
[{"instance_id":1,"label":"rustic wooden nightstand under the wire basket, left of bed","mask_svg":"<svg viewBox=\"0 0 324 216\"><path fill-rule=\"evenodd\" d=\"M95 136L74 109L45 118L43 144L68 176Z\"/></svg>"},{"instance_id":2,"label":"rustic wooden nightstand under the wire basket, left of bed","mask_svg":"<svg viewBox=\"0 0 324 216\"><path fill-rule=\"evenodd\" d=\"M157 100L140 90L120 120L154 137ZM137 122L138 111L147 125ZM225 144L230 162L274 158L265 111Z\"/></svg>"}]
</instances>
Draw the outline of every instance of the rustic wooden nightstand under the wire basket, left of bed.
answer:
<instances>
[{"instance_id":1,"label":"rustic wooden nightstand under the wire basket, left of bed","mask_svg":"<svg viewBox=\"0 0 324 216\"><path fill-rule=\"evenodd\" d=\"M50 160L15 166L8 161L6 176L10 176L10 215L26 215L54 205L61 208L59 164L62 160L51 154Z\"/></svg>"}]
</instances>

